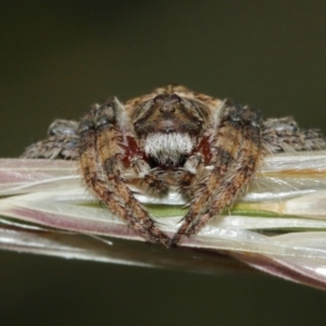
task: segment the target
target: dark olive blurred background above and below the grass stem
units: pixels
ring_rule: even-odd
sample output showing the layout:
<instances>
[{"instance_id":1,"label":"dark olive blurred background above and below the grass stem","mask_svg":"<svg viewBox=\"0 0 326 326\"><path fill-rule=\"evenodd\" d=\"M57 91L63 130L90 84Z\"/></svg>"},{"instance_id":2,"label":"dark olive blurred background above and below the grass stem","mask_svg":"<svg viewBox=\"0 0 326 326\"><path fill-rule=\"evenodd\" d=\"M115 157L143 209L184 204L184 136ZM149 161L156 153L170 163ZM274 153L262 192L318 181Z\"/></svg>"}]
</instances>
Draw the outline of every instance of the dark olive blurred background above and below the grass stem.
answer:
<instances>
[{"instance_id":1,"label":"dark olive blurred background above and below the grass stem","mask_svg":"<svg viewBox=\"0 0 326 326\"><path fill-rule=\"evenodd\" d=\"M166 83L325 128L325 1L1 1L0 154ZM0 252L2 325L325 325L326 294Z\"/></svg>"}]
</instances>

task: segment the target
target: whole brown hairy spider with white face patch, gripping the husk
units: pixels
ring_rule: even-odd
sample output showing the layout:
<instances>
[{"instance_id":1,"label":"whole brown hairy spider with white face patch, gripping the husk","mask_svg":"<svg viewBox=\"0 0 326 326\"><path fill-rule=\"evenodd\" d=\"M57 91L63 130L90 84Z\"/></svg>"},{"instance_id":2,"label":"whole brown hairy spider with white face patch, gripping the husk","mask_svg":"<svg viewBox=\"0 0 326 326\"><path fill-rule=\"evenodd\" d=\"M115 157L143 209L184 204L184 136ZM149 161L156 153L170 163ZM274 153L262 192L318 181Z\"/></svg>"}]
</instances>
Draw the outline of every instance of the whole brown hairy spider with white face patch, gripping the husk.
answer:
<instances>
[{"instance_id":1,"label":"whole brown hairy spider with white face patch, gripping the husk","mask_svg":"<svg viewBox=\"0 0 326 326\"><path fill-rule=\"evenodd\" d=\"M109 98L79 122L54 121L23 158L78 160L99 200L147 240L171 247L228 208L266 154L318 149L326 149L322 133L300 130L292 117L263 120L230 99L167 85L125 104ZM152 193L165 196L174 185L188 199L172 238L134 197L127 170Z\"/></svg>"}]
</instances>

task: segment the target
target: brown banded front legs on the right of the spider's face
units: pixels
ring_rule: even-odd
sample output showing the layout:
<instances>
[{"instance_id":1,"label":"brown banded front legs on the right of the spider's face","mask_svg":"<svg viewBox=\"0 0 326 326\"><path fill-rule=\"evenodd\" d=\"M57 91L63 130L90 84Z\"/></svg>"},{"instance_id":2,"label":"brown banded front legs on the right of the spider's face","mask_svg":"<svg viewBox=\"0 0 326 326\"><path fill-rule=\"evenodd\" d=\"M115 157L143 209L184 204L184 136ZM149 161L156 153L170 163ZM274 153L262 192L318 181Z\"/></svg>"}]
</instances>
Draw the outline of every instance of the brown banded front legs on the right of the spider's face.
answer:
<instances>
[{"instance_id":1,"label":"brown banded front legs on the right of the spider's face","mask_svg":"<svg viewBox=\"0 0 326 326\"><path fill-rule=\"evenodd\" d=\"M193 200L173 244L183 236L199 231L248 184L264 154L261 124L261 118L249 108L230 100L225 102L210 140L212 171L193 186Z\"/></svg>"}]
</instances>

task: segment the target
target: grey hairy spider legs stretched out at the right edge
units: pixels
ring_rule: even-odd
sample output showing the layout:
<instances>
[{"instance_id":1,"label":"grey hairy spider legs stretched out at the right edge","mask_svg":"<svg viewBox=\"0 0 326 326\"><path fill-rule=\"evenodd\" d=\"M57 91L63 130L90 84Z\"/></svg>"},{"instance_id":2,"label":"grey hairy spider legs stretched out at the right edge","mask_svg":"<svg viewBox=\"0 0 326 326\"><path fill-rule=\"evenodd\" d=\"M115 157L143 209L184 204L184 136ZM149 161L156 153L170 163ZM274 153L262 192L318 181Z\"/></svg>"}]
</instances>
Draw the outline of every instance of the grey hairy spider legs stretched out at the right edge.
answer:
<instances>
[{"instance_id":1,"label":"grey hairy spider legs stretched out at the right edge","mask_svg":"<svg viewBox=\"0 0 326 326\"><path fill-rule=\"evenodd\" d=\"M267 118L262 135L267 152L272 153L326 149L326 139L319 129L300 130L290 116Z\"/></svg>"}]
</instances>

